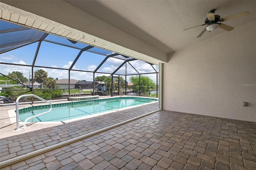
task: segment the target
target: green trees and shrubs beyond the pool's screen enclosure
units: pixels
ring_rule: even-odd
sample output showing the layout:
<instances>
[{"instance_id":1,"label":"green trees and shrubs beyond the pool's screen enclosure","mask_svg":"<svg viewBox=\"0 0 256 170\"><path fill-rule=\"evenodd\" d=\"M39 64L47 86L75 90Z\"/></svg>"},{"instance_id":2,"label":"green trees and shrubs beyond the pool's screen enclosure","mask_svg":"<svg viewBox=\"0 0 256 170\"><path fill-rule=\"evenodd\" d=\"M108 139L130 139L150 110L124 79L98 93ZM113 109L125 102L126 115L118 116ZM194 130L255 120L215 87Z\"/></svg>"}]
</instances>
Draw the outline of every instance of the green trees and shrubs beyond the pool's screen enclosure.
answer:
<instances>
[{"instance_id":1,"label":"green trees and shrubs beyond the pool's screen enclosure","mask_svg":"<svg viewBox=\"0 0 256 170\"><path fill-rule=\"evenodd\" d=\"M14 80L10 80L14 79ZM4 75L0 75L0 84L12 84L12 85L16 85L17 83L26 83L26 82L30 82L32 83L31 79L28 79L26 77L24 77L23 73L19 72L19 71L13 71L12 73L8 73L7 77ZM56 87L56 80L58 80L58 78L54 79L52 77L48 77L48 73L42 69L39 69L37 71L34 72L34 77L33 77L33 81L34 83L40 83L40 89L44 88L44 89L48 89L48 90L35 90L34 94L42 97L43 99L52 99L54 97L58 97L62 95L62 90L60 89L56 89L53 90ZM154 83L154 81L152 79L150 79L147 76L132 76L130 77L130 82L133 83L133 86L131 87L127 87L130 88L134 91L139 91L143 94L147 94L149 93L152 89L156 88L156 84ZM86 80L84 80L86 81ZM106 86L106 90L107 92L110 92L110 89L112 87L112 79L111 77L106 77L105 75L102 76L98 76L95 78L95 81L104 81L104 85ZM29 84L30 84L29 83ZM124 80L123 77L115 77L113 80L113 90L118 91L118 88L125 88L126 82ZM7 89L8 91L2 91L1 95L6 96L6 97L10 97L10 96L18 96L18 91L12 91L12 89L24 89L23 86L15 86L15 87L6 87L5 89ZM31 92L28 92L27 94L31 94Z\"/></svg>"}]
</instances>

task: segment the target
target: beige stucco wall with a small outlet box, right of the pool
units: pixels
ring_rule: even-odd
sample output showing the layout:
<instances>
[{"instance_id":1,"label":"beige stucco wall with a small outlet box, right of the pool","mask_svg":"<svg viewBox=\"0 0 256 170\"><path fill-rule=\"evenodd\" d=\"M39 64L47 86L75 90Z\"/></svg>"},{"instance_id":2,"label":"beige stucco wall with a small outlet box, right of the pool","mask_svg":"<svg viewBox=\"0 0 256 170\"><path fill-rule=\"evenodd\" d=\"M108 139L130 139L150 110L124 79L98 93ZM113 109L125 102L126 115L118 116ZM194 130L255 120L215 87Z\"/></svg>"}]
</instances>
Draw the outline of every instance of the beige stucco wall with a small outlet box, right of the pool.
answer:
<instances>
[{"instance_id":1,"label":"beige stucco wall with a small outlet box, right of the pool","mask_svg":"<svg viewBox=\"0 0 256 170\"><path fill-rule=\"evenodd\" d=\"M255 28L256 20L169 54L163 109L256 122Z\"/></svg>"}]
</instances>

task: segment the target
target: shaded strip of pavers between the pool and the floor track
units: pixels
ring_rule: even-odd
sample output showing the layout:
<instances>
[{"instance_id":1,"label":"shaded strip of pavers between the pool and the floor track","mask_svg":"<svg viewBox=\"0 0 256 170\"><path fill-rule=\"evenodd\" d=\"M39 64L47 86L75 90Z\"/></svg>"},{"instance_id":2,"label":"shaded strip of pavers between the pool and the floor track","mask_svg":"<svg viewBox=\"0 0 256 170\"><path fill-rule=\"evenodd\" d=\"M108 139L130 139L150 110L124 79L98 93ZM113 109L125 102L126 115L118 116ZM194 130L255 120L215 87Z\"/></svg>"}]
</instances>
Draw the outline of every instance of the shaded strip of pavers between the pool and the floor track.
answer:
<instances>
[{"instance_id":1,"label":"shaded strip of pavers between the pool and the floor track","mask_svg":"<svg viewBox=\"0 0 256 170\"><path fill-rule=\"evenodd\" d=\"M0 139L0 161L51 146L158 109L158 102ZM36 125L30 125L34 127ZM43 127L47 125L40 125ZM14 134L12 125L10 134Z\"/></svg>"}]
</instances>

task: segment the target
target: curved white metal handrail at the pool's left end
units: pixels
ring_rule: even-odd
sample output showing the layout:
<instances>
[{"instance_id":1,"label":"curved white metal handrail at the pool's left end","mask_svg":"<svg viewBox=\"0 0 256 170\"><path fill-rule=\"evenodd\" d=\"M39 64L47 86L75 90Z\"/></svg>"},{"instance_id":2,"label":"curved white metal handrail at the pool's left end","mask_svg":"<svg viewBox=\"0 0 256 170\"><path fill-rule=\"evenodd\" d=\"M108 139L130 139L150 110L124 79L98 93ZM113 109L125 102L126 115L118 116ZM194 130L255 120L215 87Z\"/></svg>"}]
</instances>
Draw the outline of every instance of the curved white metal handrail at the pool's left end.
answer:
<instances>
[{"instance_id":1,"label":"curved white metal handrail at the pool's left end","mask_svg":"<svg viewBox=\"0 0 256 170\"><path fill-rule=\"evenodd\" d=\"M24 128L26 127L26 123L27 123L27 121L28 121L29 119L34 118L34 117L38 117L38 116L40 116L40 115L44 115L44 114L46 114L46 113L49 113L49 112L52 110L52 103L50 103L50 102L47 101L47 100L42 99L41 97L38 97L38 96L32 95L32 94L19 96L19 97L16 99L16 124L17 124L16 130L20 130L19 100L20 100L20 98L22 98L22 97L28 97L28 96L33 96L33 97L36 97L36 98L38 98L38 99L40 99L40 100L42 100L42 101L44 101L44 102L46 102L46 103L49 103L51 107L50 107L50 110L47 111L47 112L40 113L39 115L35 115L35 116L32 116L32 117L27 118L27 119L24 121L24 124L23 124L23 127L24 127Z\"/></svg>"}]
</instances>

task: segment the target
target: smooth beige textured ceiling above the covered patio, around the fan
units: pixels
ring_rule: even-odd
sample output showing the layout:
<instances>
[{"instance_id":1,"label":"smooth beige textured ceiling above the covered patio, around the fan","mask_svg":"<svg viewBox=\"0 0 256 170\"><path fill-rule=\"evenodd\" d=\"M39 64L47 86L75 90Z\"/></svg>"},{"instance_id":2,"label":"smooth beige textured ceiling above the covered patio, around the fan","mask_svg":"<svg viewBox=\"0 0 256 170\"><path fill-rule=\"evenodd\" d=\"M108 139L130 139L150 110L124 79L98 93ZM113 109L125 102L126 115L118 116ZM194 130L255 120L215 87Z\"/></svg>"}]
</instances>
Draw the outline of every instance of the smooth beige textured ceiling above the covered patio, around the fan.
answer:
<instances>
[{"instance_id":1,"label":"smooth beige textured ceiling above the covered patio, around the fan","mask_svg":"<svg viewBox=\"0 0 256 170\"><path fill-rule=\"evenodd\" d=\"M182 31L185 28L204 24L206 13L212 9L216 9L215 14L220 15L221 18L245 11L250 12L250 15L244 18L222 22L234 28L256 20L254 0L66 0L66 2L165 53L171 53L226 32L218 28L196 38L205 26Z\"/></svg>"}]
</instances>

